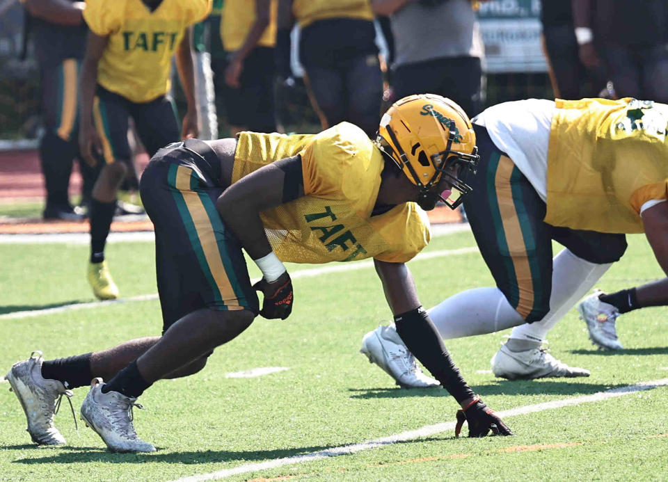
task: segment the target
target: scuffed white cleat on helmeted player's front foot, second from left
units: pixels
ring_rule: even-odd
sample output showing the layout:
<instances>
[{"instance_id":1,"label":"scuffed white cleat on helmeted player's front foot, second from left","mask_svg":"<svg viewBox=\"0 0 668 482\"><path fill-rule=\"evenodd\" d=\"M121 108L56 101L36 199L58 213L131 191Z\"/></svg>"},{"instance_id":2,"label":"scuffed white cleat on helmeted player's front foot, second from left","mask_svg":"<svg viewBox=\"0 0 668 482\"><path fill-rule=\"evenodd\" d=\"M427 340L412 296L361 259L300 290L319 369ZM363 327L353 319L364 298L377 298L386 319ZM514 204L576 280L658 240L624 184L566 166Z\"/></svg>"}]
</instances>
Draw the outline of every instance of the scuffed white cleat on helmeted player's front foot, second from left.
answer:
<instances>
[{"instance_id":1,"label":"scuffed white cleat on helmeted player's front foot, second from left","mask_svg":"<svg viewBox=\"0 0 668 482\"><path fill-rule=\"evenodd\" d=\"M81 404L81 419L102 437L112 452L154 452L148 442L137 437L132 425L132 408L143 408L136 398L118 392L102 393L102 378L93 378Z\"/></svg>"}]
</instances>

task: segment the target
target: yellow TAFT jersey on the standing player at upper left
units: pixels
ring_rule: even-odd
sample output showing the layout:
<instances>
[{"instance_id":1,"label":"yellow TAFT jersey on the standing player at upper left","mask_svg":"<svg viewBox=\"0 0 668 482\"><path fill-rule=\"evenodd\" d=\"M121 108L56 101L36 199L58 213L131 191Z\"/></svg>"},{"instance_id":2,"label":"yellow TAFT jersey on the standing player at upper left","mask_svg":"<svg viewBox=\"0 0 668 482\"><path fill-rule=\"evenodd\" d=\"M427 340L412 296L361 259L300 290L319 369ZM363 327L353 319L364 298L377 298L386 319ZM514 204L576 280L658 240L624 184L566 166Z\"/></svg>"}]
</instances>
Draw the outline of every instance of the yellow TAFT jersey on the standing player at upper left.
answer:
<instances>
[{"instance_id":1,"label":"yellow TAFT jersey on the standing player at upper left","mask_svg":"<svg viewBox=\"0 0 668 482\"><path fill-rule=\"evenodd\" d=\"M171 58L185 29L210 10L211 0L162 0L153 11L141 0L86 0L86 24L109 36L97 83L132 102L166 94Z\"/></svg>"}]
</instances>

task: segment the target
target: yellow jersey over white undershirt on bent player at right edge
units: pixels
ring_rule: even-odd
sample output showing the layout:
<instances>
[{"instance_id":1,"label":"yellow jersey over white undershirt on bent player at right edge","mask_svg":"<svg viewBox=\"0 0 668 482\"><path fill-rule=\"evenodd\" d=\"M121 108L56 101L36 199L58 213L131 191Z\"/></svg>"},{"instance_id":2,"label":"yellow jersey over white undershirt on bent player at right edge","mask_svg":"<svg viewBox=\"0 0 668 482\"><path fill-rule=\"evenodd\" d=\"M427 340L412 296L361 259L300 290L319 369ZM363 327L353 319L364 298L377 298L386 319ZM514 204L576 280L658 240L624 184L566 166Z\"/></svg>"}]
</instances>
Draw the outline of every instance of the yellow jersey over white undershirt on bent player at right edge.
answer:
<instances>
[{"instance_id":1,"label":"yellow jersey over white undershirt on bent player at right edge","mask_svg":"<svg viewBox=\"0 0 668 482\"><path fill-rule=\"evenodd\" d=\"M668 106L635 99L557 99L548 151L545 221L643 232L644 202L667 199Z\"/></svg>"}]
</instances>

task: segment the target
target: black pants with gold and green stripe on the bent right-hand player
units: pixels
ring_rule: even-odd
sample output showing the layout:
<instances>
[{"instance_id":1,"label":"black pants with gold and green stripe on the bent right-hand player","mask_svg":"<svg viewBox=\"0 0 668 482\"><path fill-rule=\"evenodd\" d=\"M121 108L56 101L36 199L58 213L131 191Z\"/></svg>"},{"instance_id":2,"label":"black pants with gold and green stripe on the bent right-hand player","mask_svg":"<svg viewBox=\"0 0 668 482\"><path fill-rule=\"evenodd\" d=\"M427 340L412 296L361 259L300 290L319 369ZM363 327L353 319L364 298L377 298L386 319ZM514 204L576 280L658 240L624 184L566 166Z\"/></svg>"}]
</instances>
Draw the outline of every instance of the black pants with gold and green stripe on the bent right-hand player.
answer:
<instances>
[{"instance_id":1,"label":"black pants with gold and green stripe on the bent right-hand player","mask_svg":"<svg viewBox=\"0 0 668 482\"><path fill-rule=\"evenodd\" d=\"M513 161L498 150L485 127L473 125L480 152L464 209L497 287L529 322L550 311L552 240L591 263L616 262L623 234L571 230L543 221L546 204Z\"/></svg>"}]
</instances>

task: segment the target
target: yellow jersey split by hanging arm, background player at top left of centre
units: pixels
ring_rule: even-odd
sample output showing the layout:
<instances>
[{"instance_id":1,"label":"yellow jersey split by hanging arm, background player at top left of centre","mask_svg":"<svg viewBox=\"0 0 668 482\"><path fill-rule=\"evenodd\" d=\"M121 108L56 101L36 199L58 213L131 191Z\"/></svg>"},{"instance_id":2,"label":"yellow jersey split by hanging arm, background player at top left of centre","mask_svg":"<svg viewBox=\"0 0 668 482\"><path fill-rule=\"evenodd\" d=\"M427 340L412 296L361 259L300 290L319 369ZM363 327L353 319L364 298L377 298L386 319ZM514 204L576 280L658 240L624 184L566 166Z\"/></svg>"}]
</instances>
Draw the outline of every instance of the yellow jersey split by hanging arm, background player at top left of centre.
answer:
<instances>
[{"instance_id":1,"label":"yellow jersey split by hanging arm, background player at top left of centre","mask_svg":"<svg viewBox=\"0 0 668 482\"><path fill-rule=\"evenodd\" d=\"M278 0L271 0L269 6L269 25L257 40L259 47L276 45L276 12ZM226 51L234 51L244 45L244 40L255 22L255 1L225 0L221 17L221 38Z\"/></svg>"}]
</instances>

